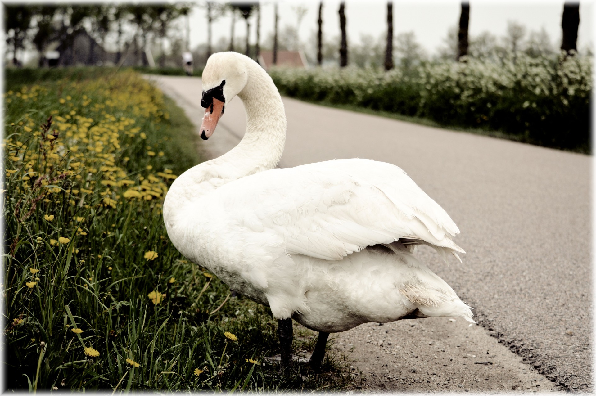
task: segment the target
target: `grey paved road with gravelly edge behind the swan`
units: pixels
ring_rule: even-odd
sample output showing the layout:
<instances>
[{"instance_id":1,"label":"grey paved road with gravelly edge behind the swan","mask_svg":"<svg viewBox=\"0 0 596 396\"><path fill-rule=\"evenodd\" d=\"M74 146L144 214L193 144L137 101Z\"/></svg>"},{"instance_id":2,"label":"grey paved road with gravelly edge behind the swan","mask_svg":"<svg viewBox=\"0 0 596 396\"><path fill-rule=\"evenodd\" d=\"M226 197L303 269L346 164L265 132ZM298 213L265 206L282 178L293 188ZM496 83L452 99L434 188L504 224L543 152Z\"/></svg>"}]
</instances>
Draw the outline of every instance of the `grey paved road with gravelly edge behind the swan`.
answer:
<instances>
[{"instance_id":1,"label":"grey paved road with gravelly edge behind the swan","mask_svg":"<svg viewBox=\"0 0 596 396\"><path fill-rule=\"evenodd\" d=\"M159 84L200 124L203 113L199 104L200 79L159 77ZM473 356L474 350L488 348L495 341L488 336L492 335L500 343L495 345L501 348L505 345L517 356L499 355L501 363L492 370L495 374L490 381L482 378L482 372L474 372L467 382L468 386L476 382L470 390L501 389L478 383L509 379L518 385L514 383L508 389L530 389L529 383L542 383L541 388L537 387L542 391L550 389L549 385L561 390L592 391L591 157L294 99L284 98L284 104L288 133L280 167L353 157L396 164L442 205L461 229L457 243L467 251L463 264L446 266L430 251L421 251L421 258L462 300L476 308L476 318L482 327L470 328L465 333L462 323L452 323L450 330L451 322L445 322L446 319L427 319L377 327L363 325L350 330L351 335L342 333L336 339L336 346L343 350L351 345L358 347L359 342L370 337L375 340L372 344L377 348L376 354L359 355L358 350L366 348L356 348L351 356L356 356L360 362L358 369L365 374L368 366L373 367L367 382L376 385L370 389L439 389L421 388L420 383L432 384L434 379L443 389L465 388L466 385L459 386L461 382L455 386L457 381L445 381L445 377L466 379L470 370L485 366L478 361L465 364L462 359ZM218 130L205 144L207 151L217 156L235 145L244 133L244 117L240 99L226 104ZM426 332L403 336L411 328L410 322L426 328ZM422 336L426 333L430 341ZM464 335L476 342L468 348L471 351L468 353L460 351L467 344L449 344L449 339ZM401 345L396 344L399 342ZM426 345L429 343L431 347ZM418 375L408 374L409 370L402 370L401 366L398 369L397 361L407 363L423 345L429 358L442 360L437 351L455 357L448 360L449 364L437 366L443 370L451 369L460 359L464 362L461 372L447 371L439 379L428 367ZM387 358L377 357L378 354L395 358L393 353L399 356L401 352L398 348L409 348L407 353L401 350L408 357L394 359L390 363L395 365L393 369L383 361L387 372L375 373L384 366L379 362ZM492 356L494 348L486 354ZM494 358L498 360L496 355ZM527 365L516 366L522 360ZM395 369L403 377L393 378L391 373ZM538 373L552 383L539 382L539 378L533 377ZM375 375L384 377L374 378Z\"/></svg>"}]
</instances>

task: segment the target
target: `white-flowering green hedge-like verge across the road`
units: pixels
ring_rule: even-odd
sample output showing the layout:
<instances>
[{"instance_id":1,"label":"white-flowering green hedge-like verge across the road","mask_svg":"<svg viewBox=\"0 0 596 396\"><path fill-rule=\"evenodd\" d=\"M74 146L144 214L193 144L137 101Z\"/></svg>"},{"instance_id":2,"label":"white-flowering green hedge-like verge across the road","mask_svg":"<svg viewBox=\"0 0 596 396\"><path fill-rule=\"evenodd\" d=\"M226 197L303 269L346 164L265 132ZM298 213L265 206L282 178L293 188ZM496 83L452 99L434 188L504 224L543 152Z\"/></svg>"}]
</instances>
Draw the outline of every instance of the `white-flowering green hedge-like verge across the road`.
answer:
<instances>
[{"instance_id":1,"label":"white-flowering green hedge-like verge across the road","mask_svg":"<svg viewBox=\"0 0 596 396\"><path fill-rule=\"evenodd\" d=\"M273 68L280 92L355 105L440 126L462 127L530 144L590 151L589 57L530 58L503 64L467 58L388 72L373 68ZM489 133L490 134L490 133Z\"/></svg>"}]
</instances>

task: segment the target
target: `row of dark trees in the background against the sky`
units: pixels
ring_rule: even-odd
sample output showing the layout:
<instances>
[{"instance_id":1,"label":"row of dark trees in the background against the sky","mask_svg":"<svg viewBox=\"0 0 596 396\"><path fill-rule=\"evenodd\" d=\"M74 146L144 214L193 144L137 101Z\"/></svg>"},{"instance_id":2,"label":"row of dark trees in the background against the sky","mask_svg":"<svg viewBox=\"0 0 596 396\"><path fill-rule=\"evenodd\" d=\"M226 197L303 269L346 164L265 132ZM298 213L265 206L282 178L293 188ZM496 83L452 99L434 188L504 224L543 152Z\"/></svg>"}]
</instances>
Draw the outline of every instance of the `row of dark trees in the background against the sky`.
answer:
<instances>
[{"instance_id":1,"label":"row of dark trees in the background against the sky","mask_svg":"<svg viewBox=\"0 0 596 396\"><path fill-rule=\"evenodd\" d=\"M206 11L207 22L207 37L206 48L204 48L204 60L214 52L213 38L212 38L212 24L224 15L231 17L231 31L229 36L229 44L218 45L218 50L233 51L237 49L237 44L234 43L235 25L238 18L243 18L246 24L245 42L242 43L244 54L258 58L261 51L261 37L260 37L260 18L261 8L259 2L229 2L219 3L215 1L205 1L198 5L203 7ZM115 48L115 63L120 63L123 58L126 58L131 52L134 53L134 58L143 66L147 66L148 60L145 55L145 48L149 44L161 44L161 54L159 57L159 65L165 66L165 45L166 38L169 35L169 29L180 17L187 16L193 7L193 4L100 4L100 5L5 5L5 33L7 38L8 53L12 54L12 63L19 66L22 61L18 54L23 54L27 44L33 46L38 51L39 66L43 65L43 56L45 49L51 42L60 42L61 48L72 48L72 41L77 32L85 31L94 40L90 43L94 45L95 42L100 46L106 45L108 36L111 38L111 46ZM283 45L284 35L285 41L293 39L297 42L297 32L299 30L300 22L306 14L306 8L303 6L293 7L296 14L296 28L286 29L280 31L278 26L279 15L277 2L274 4L274 32L269 38L269 48L273 52L273 63L277 63L277 54L281 48L286 48L288 45ZM340 67L348 64L348 42L346 33L346 4L344 1L340 2L338 10L339 24L340 24L340 38L339 42L333 44L324 42L323 36L323 19L322 10L324 2L319 2L318 5L318 19L316 32L316 64L321 65L325 57L328 57L330 51L336 51L337 61ZM379 66L383 66L386 70L395 67L394 52L395 52L395 37L393 35L393 3L387 2L386 14L387 30L386 30L386 44L383 48L384 60ZM256 42L251 44L249 42L249 32L252 21L256 18ZM470 23L470 4L467 1L461 3L460 19L457 26L457 38L452 36L453 41L448 42L451 49L445 51L447 54L443 57L450 57L451 52L455 52L455 60L465 61L467 55L475 55L474 53L482 53L482 56L491 51L498 51L495 46L495 39L491 38L488 33L476 39L475 43L470 42L468 38L468 26ZM563 39L561 40L561 50L566 54L574 54L577 50L577 37L579 28L579 3L566 2L563 7L563 15L561 18L561 29L563 31ZM187 26L185 38L183 40L183 49L188 51L188 36L190 27ZM178 32L179 33L179 32ZM451 33L450 33L451 34ZM510 24L508 27L508 36L513 45L513 52L516 53L516 48L524 34L522 26ZM545 34L545 33L544 33ZM293 36L288 38L288 36ZM401 33L398 35L399 43L404 48L398 48L401 52L412 53L418 51L417 43L415 43L413 33ZM536 38L544 42L544 35L542 38ZM314 42L315 38L313 38ZM450 39L451 40L451 39ZM370 41L370 40L369 40ZM377 46L369 42L367 46L371 49L372 46ZM471 48L476 47L476 48ZM544 46L544 45L543 45ZM331 47L331 48L330 48ZM490 48L489 48L490 47ZM297 45L294 49L298 49ZM472 51L470 51L472 49ZM362 64L358 58L366 57L366 52L353 45L350 52L354 52L356 64ZM541 52L540 48L536 48L535 52ZM369 51L370 52L370 51ZM471 54L470 54L471 52ZM91 53L91 52L90 52ZM66 51L64 54L63 64L74 64L72 54ZM493 55L490 55L493 56ZM495 56L498 56L495 55ZM69 58L70 57L70 58ZM202 57L201 57L202 58ZM335 56L334 56L335 58ZM408 62L408 60L405 60Z\"/></svg>"}]
</instances>

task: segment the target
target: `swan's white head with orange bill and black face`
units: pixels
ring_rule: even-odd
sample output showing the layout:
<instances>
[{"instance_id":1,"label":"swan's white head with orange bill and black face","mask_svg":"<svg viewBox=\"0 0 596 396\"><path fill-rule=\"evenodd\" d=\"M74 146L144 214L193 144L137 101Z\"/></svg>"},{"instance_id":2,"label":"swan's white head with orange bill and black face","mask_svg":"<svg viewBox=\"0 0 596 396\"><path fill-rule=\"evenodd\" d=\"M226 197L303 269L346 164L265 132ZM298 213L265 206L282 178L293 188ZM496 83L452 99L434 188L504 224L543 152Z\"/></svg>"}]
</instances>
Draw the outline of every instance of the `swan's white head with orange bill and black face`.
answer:
<instances>
[{"instance_id":1,"label":"swan's white head with orange bill and black face","mask_svg":"<svg viewBox=\"0 0 596 396\"><path fill-rule=\"evenodd\" d=\"M224 114L226 102L238 95L248 80L247 61L250 58L237 52L218 52L207 60L203 70L203 97L205 108L201 138L207 140L213 135L219 117Z\"/></svg>"}]
</instances>

